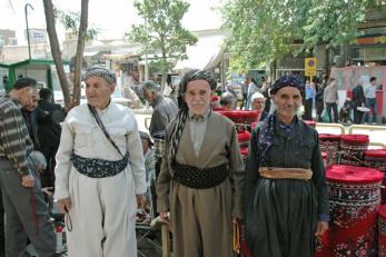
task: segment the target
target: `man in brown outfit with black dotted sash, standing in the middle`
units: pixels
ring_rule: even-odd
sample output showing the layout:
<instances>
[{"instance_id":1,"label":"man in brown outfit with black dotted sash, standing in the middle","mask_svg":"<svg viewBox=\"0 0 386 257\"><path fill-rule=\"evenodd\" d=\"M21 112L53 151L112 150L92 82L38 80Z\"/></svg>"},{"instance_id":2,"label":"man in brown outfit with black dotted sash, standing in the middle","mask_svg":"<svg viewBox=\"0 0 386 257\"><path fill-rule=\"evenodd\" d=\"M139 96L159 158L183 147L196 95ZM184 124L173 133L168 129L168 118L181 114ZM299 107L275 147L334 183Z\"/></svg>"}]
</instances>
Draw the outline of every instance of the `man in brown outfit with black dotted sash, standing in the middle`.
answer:
<instances>
[{"instance_id":1,"label":"man in brown outfit with black dotted sash, standing in the middle","mask_svg":"<svg viewBox=\"0 0 386 257\"><path fill-rule=\"evenodd\" d=\"M167 127L157 204L161 218L170 211L175 256L232 256L245 172L234 123L210 109L215 89L211 73L187 72Z\"/></svg>"}]
</instances>

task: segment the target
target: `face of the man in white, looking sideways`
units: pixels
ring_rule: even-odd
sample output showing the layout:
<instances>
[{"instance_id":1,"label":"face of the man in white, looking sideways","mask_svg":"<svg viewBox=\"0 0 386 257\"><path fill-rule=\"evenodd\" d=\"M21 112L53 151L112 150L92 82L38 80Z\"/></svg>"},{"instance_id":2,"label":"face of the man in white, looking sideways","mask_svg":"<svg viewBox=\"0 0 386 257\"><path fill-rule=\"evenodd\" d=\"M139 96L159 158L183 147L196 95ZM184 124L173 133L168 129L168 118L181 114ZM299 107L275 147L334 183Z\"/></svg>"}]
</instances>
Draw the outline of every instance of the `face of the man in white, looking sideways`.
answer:
<instances>
[{"instance_id":1,"label":"face of the man in white, looking sideways","mask_svg":"<svg viewBox=\"0 0 386 257\"><path fill-rule=\"evenodd\" d=\"M85 82L88 103L97 109L105 109L116 86L109 85L100 77L89 77Z\"/></svg>"}]
</instances>

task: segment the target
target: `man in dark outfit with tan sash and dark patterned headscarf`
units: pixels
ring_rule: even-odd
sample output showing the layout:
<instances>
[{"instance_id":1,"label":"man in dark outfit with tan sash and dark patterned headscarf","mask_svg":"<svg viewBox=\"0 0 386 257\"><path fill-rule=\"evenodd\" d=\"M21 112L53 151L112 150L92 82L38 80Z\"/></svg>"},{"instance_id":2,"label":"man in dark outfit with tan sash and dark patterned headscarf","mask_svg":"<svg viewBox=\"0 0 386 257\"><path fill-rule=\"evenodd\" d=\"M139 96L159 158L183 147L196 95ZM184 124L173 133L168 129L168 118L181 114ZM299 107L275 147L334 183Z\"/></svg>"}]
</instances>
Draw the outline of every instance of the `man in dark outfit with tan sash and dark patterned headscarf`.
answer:
<instances>
[{"instance_id":1,"label":"man in dark outfit with tan sash and dark patterned headscarf","mask_svg":"<svg viewBox=\"0 0 386 257\"><path fill-rule=\"evenodd\" d=\"M253 256L313 257L328 228L328 195L318 134L297 118L301 80L279 78L275 111L253 131L246 169L246 235Z\"/></svg>"}]
</instances>

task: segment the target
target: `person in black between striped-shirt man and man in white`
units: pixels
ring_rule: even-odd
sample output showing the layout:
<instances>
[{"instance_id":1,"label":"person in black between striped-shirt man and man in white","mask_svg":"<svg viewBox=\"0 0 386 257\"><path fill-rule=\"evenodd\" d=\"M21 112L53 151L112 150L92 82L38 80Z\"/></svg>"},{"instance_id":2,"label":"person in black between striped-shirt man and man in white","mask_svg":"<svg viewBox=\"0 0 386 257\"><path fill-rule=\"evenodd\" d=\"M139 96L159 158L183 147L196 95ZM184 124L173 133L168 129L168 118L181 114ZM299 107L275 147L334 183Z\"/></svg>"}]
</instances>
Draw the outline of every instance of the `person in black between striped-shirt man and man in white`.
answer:
<instances>
[{"instance_id":1,"label":"person in black between striped-shirt man and man in white","mask_svg":"<svg viewBox=\"0 0 386 257\"><path fill-rule=\"evenodd\" d=\"M39 91L40 101L37 111L43 111L44 118L38 118L38 139L40 151L47 160L47 168L41 174L42 187L53 187L55 184L55 156L57 155L61 127L59 125L66 117L66 112L60 105L51 102L52 92L47 88ZM41 117L41 116L40 116Z\"/></svg>"}]
</instances>

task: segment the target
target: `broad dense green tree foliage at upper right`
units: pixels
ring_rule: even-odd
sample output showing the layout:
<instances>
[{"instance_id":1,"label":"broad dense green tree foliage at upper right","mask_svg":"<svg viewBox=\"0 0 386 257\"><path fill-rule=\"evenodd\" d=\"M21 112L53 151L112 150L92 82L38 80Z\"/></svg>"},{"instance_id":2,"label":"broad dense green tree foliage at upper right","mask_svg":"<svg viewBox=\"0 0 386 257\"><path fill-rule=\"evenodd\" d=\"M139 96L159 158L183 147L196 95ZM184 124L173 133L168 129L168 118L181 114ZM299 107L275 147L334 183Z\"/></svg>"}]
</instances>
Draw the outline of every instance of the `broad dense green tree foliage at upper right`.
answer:
<instances>
[{"instance_id":1,"label":"broad dense green tree foliage at upper right","mask_svg":"<svg viewBox=\"0 0 386 257\"><path fill-rule=\"evenodd\" d=\"M239 57L235 67L255 68L316 45L352 42L369 8L383 0L229 0L222 8L227 45ZM294 42L301 45L294 48Z\"/></svg>"}]
</instances>

